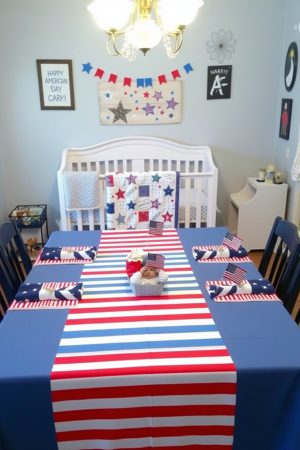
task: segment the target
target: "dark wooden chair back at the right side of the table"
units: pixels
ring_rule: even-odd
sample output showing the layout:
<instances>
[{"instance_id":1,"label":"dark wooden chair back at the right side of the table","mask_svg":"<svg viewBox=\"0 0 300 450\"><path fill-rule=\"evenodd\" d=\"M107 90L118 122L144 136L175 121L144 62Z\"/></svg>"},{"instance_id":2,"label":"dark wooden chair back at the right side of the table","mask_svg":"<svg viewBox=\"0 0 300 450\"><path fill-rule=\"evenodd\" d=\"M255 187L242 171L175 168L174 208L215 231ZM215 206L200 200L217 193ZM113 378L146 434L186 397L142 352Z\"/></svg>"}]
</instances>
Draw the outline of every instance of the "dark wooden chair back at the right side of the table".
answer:
<instances>
[{"instance_id":1,"label":"dark wooden chair back at the right side of the table","mask_svg":"<svg viewBox=\"0 0 300 450\"><path fill-rule=\"evenodd\" d=\"M299 255L299 251L299 228L288 220L276 217L258 270L273 284L283 304L285 304L287 289L295 270L296 255Z\"/></svg>"}]
</instances>

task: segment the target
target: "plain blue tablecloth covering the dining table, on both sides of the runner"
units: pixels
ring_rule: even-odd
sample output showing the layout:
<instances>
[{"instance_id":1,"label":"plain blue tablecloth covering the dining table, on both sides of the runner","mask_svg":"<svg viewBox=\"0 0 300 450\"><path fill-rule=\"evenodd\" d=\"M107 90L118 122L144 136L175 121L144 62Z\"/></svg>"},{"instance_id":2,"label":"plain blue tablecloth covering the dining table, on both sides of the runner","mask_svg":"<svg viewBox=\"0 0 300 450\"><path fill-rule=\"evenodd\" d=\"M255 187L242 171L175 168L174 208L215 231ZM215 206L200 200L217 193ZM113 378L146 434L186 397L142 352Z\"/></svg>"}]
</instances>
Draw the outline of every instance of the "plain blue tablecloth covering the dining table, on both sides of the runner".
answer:
<instances>
[{"instance_id":1,"label":"plain blue tablecloth covering the dining table, on both sides of the runner","mask_svg":"<svg viewBox=\"0 0 300 450\"><path fill-rule=\"evenodd\" d=\"M201 291L204 302L202 306L208 308L221 337L220 346L226 347L236 369L233 444L219 447L217 444L210 445L209 442L203 446L194 442L190 447L181 448L299 450L300 328L280 300L216 302L210 297L206 282L221 280L228 262L199 262L193 257L192 247L220 245L228 228L179 228L175 231L184 249L187 264L196 279L197 289ZM104 235L105 231L101 230L54 231L45 245L99 247ZM93 264L94 261L89 267L93 267ZM261 278L252 261L234 264L246 270L246 279ZM37 264L32 267L26 283L77 283L81 279L85 280L82 275L84 270L89 273L87 267L84 262ZM121 270L125 273L125 268ZM99 280L101 276L99 275ZM167 285L168 282L166 288ZM133 301L139 300L138 297L132 298ZM76 309L73 308L72 313L76 314ZM56 394L51 391L51 385L55 385L56 381L53 374L56 373L54 368L58 364L57 360L73 357L73 350L68 348L65 352L69 353L63 356L59 354L70 311L71 308L68 307L15 308L7 311L4 316L0 324L0 450L81 448L67 447L64 443L58 445L53 410L53 398L57 391ZM124 338L124 352L126 342ZM113 351L114 349L112 353ZM90 347L87 350L89 352L98 354L101 347ZM76 379L74 383L85 383L83 375L78 377L80 380ZM64 383L64 380L60 381ZM107 450L125 448L110 445ZM179 441L158 445L153 440L152 445L136 448L175 449L178 446L180 447ZM85 450L95 448L84 447Z\"/></svg>"}]
</instances>

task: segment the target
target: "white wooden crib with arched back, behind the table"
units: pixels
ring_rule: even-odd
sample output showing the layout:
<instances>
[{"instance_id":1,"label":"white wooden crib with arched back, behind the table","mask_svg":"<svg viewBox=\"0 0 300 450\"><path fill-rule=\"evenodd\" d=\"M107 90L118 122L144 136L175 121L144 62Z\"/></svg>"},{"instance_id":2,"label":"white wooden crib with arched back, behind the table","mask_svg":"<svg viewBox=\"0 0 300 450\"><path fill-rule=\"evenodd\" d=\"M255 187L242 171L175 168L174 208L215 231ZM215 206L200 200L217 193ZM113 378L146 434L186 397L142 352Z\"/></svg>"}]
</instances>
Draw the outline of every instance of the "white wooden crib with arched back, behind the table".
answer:
<instances>
[{"instance_id":1,"label":"white wooden crib with arched back, behind the table","mask_svg":"<svg viewBox=\"0 0 300 450\"><path fill-rule=\"evenodd\" d=\"M98 171L100 207L67 211L63 171ZM112 139L83 148L65 148L57 172L61 229L105 229L105 173L113 171L179 171L179 227L214 227L218 169L210 148L178 144L150 136ZM84 186L82 186L84 189Z\"/></svg>"}]
</instances>

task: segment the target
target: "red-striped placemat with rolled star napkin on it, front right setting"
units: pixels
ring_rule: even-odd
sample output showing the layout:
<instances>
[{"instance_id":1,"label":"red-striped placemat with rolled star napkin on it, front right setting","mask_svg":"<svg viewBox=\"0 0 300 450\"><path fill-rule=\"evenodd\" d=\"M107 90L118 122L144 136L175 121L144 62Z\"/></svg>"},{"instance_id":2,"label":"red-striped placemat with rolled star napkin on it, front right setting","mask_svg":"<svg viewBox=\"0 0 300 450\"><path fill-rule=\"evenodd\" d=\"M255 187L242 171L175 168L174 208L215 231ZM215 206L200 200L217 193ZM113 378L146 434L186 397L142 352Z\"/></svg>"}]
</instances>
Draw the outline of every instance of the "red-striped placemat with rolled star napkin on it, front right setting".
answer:
<instances>
[{"instance_id":1,"label":"red-striped placemat with rolled star napkin on it, front right setting","mask_svg":"<svg viewBox=\"0 0 300 450\"><path fill-rule=\"evenodd\" d=\"M206 281L205 287L215 302L253 302L266 300L280 300L274 293L269 280L243 280L240 285L233 281Z\"/></svg>"}]
</instances>

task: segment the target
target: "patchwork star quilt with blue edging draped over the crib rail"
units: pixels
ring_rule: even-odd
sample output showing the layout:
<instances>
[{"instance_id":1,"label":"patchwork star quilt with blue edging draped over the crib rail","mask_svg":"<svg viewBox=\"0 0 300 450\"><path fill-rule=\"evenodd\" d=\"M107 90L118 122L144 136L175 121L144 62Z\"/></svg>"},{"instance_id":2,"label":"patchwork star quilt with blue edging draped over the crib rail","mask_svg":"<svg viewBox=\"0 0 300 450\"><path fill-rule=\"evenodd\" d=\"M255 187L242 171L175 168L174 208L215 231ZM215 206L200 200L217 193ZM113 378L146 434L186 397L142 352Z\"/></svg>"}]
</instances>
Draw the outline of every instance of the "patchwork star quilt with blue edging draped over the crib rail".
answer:
<instances>
[{"instance_id":1,"label":"patchwork star quilt with blue edging draped over the crib rail","mask_svg":"<svg viewBox=\"0 0 300 450\"><path fill-rule=\"evenodd\" d=\"M149 220L178 227L179 172L108 172L107 229L148 229Z\"/></svg>"}]
</instances>

